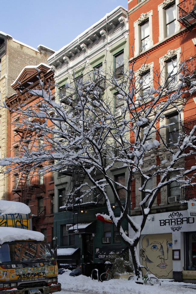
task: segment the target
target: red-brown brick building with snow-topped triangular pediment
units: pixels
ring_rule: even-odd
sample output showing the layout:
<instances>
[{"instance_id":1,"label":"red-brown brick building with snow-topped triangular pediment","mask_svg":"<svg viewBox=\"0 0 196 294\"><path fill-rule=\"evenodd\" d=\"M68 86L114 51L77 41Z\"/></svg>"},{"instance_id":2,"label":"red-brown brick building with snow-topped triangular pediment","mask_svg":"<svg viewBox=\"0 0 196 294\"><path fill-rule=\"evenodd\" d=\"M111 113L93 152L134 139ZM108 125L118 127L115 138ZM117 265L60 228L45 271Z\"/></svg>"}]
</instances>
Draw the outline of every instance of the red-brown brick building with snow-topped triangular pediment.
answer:
<instances>
[{"instance_id":1,"label":"red-brown brick building with snow-topped triangular pediment","mask_svg":"<svg viewBox=\"0 0 196 294\"><path fill-rule=\"evenodd\" d=\"M48 84L53 81L53 72L50 67L44 63L38 66L26 66L16 81L12 84L12 88L16 92L6 100L7 105L15 110L22 103L29 106L38 104L40 98L28 93L26 89L39 89L39 80L37 75L44 83ZM24 87L22 93L18 90L18 82ZM33 86L32 86L33 85ZM54 92L54 86L51 87ZM11 146L10 155L19 156L21 145L28 150L33 148L44 148L44 136L38 131L32 132L26 123L26 120L33 120L38 124L42 124L44 119L25 118L19 113L11 111ZM24 124L23 124L24 123ZM50 125L48 125L50 127ZM10 199L11 201L19 201L30 206L32 214L33 230L42 232L45 241L52 246L53 239L53 220L54 220L54 174L40 174L39 171L43 166L39 166L29 173L21 174L13 171L10 174Z\"/></svg>"}]
</instances>

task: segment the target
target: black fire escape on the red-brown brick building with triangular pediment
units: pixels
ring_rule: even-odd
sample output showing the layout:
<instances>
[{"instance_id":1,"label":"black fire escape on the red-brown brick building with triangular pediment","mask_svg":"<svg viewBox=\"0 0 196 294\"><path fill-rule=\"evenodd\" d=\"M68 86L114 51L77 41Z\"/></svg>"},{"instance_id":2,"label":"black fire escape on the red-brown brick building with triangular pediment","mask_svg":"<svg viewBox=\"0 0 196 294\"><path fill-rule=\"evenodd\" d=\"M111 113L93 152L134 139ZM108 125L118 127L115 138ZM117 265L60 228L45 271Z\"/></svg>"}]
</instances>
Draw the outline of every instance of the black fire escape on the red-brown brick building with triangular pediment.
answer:
<instances>
[{"instance_id":1,"label":"black fire escape on the red-brown brick building with triangular pediment","mask_svg":"<svg viewBox=\"0 0 196 294\"><path fill-rule=\"evenodd\" d=\"M33 118L33 122L43 123L43 120L38 118ZM27 126L17 125L13 131L20 136L23 140L23 143L28 144L32 137L32 130ZM30 200L33 194L44 193L46 190L45 187L45 177L44 175L33 175L23 174L21 178L16 177L13 181L12 191L19 195L21 202L29 205Z\"/></svg>"}]
</instances>

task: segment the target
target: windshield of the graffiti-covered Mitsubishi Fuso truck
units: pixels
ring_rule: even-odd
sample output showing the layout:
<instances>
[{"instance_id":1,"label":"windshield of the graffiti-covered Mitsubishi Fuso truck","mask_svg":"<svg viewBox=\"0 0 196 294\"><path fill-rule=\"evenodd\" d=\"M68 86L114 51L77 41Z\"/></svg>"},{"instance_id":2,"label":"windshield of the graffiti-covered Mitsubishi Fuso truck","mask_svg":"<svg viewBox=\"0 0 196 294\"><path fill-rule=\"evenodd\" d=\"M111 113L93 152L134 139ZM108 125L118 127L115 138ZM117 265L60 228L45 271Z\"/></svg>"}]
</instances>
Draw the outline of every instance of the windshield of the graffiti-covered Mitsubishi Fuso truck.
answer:
<instances>
[{"instance_id":1,"label":"windshield of the graffiti-covered Mitsubishi Fuso truck","mask_svg":"<svg viewBox=\"0 0 196 294\"><path fill-rule=\"evenodd\" d=\"M0 246L0 262L52 260L53 255L45 242L16 241Z\"/></svg>"}]
</instances>

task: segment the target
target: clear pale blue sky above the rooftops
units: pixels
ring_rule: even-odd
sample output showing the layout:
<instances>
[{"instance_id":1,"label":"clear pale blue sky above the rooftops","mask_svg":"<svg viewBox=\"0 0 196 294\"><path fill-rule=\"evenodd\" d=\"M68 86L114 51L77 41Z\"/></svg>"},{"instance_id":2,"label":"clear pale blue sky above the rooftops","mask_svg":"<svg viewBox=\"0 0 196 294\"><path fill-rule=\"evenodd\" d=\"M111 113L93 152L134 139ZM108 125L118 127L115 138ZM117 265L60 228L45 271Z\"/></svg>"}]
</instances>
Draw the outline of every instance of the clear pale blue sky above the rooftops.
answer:
<instances>
[{"instance_id":1,"label":"clear pale blue sky above the rooftops","mask_svg":"<svg viewBox=\"0 0 196 294\"><path fill-rule=\"evenodd\" d=\"M57 51L119 5L128 9L128 0L2 1L0 31Z\"/></svg>"}]
</instances>

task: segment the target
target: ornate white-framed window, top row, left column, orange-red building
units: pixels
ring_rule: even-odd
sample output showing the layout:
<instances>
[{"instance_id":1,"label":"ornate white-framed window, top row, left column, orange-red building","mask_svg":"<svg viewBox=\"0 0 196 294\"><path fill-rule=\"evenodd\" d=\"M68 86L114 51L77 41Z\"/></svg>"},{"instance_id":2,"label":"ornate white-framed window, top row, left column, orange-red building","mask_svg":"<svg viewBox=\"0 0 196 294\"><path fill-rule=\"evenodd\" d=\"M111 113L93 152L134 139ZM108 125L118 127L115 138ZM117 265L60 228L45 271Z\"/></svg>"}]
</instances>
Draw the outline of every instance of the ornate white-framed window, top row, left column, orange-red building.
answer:
<instances>
[{"instance_id":1,"label":"ornate white-framed window, top row, left column, orange-red building","mask_svg":"<svg viewBox=\"0 0 196 294\"><path fill-rule=\"evenodd\" d=\"M153 46L152 14L152 10L147 13L142 13L138 20L134 22L134 56Z\"/></svg>"}]
</instances>

